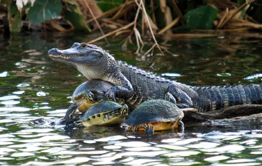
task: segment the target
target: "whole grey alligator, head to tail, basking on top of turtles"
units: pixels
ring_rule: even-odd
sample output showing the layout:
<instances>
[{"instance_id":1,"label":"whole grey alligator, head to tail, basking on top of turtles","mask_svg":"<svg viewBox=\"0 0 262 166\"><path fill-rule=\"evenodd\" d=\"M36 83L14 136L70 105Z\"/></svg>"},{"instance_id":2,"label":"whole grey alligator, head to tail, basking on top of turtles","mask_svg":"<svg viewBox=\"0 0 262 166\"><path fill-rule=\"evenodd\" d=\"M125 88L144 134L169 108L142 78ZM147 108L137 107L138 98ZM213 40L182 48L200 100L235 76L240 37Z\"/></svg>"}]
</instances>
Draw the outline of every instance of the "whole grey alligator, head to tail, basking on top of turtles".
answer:
<instances>
[{"instance_id":1,"label":"whole grey alligator, head to tail, basking on top of turtles","mask_svg":"<svg viewBox=\"0 0 262 166\"><path fill-rule=\"evenodd\" d=\"M170 100L179 108L201 112L234 104L261 104L261 85L193 87L117 61L108 51L93 44L74 43L71 48L52 48L49 57L74 65L88 80L104 80L115 86L105 95L124 98L130 106L152 99Z\"/></svg>"}]
</instances>

